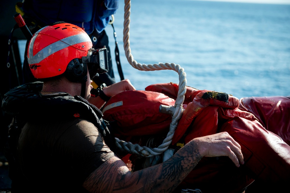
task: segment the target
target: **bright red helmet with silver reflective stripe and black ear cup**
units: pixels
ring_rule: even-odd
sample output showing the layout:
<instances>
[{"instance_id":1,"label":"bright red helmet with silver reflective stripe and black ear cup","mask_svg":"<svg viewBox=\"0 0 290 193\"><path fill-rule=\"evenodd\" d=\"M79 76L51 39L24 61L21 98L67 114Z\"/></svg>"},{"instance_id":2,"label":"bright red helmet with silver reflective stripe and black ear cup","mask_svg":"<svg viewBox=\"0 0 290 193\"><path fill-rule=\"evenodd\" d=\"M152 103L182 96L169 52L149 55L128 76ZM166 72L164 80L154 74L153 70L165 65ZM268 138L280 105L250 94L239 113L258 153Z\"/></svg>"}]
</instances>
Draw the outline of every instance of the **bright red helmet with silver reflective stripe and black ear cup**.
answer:
<instances>
[{"instance_id":1,"label":"bright red helmet with silver reflective stripe and black ear cup","mask_svg":"<svg viewBox=\"0 0 290 193\"><path fill-rule=\"evenodd\" d=\"M27 57L37 79L66 72L73 82L84 81L87 67L78 59L88 55L93 44L88 34L70 23L57 23L37 31L29 42Z\"/></svg>"}]
</instances>

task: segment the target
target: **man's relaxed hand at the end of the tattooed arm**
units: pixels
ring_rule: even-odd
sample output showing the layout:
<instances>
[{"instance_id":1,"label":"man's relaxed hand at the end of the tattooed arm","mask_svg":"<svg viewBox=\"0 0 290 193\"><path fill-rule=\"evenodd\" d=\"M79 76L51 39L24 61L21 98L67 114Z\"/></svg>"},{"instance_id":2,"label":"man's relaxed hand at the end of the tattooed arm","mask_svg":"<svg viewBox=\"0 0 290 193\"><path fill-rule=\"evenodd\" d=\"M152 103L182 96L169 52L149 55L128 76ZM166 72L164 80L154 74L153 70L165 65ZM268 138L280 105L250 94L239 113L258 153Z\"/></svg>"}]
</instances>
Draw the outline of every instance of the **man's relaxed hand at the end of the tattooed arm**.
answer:
<instances>
[{"instance_id":1,"label":"man's relaxed hand at the end of the tattooed arm","mask_svg":"<svg viewBox=\"0 0 290 193\"><path fill-rule=\"evenodd\" d=\"M198 137L193 139L201 156L228 156L237 167L244 164L241 146L227 132Z\"/></svg>"}]
</instances>

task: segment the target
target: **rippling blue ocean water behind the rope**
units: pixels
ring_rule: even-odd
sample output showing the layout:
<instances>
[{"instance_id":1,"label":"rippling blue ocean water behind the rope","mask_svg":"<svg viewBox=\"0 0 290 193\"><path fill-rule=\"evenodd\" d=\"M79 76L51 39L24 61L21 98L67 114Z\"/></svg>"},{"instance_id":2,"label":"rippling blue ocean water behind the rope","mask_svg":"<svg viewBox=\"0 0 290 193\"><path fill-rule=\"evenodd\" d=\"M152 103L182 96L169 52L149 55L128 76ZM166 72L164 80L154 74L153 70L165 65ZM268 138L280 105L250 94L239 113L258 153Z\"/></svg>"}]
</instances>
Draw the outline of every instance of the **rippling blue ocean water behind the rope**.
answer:
<instances>
[{"instance_id":1,"label":"rippling blue ocean water behind the rope","mask_svg":"<svg viewBox=\"0 0 290 193\"><path fill-rule=\"evenodd\" d=\"M290 95L290 5L190 0L131 2L130 48L141 64L175 63L187 85L235 97ZM178 83L173 70L141 71L123 48L124 1L115 14L125 79L137 90L155 83ZM113 28L108 26L113 68Z\"/></svg>"}]
</instances>

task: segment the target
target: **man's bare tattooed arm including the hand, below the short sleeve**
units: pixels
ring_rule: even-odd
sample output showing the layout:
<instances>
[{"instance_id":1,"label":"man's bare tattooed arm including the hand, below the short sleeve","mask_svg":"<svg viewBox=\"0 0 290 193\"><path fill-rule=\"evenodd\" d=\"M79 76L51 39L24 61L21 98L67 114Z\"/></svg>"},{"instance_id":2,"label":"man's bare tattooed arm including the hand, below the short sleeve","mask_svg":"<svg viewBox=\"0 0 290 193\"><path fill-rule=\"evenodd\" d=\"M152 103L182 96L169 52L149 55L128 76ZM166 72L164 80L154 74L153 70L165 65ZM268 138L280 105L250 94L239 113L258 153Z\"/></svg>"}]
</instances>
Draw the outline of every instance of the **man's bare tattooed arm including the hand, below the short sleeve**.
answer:
<instances>
[{"instance_id":1,"label":"man's bare tattooed arm including the hand, below the short sleeve","mask_svg":"<svg viewBox=\"0 0 290 193\"><path fill-rule=\"evenodd\" d=\"M113 156L92 172L83 185L91 192L173 192L203 156L229 156L237 167L239 161L244 163L240 145L227 132L221 132L197 137L164 163L135 172Z\"/></svg>"}]
</instances>

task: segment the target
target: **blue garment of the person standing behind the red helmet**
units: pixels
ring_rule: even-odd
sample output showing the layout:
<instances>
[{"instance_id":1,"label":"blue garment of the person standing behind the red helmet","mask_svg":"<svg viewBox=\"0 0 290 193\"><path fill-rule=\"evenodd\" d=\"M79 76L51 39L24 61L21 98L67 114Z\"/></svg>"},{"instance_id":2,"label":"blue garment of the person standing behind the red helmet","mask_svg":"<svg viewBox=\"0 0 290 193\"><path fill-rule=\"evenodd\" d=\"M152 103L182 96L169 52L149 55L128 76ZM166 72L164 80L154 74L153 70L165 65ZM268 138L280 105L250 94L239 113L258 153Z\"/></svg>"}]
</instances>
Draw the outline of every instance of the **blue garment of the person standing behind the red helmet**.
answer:
<instances>
[{"instance_id":1,"label":"blue garment of the person standing behind the red helmet","mask_svg":"<svg viewBox=\"0 0 290 193\"><path fill-rule=\"evenodd\" d=\"M91 34L102 32L119 7L119 0L25 0L23 11L44 27L57 21L72 23Z\"/></svg>"}]
</instances>

